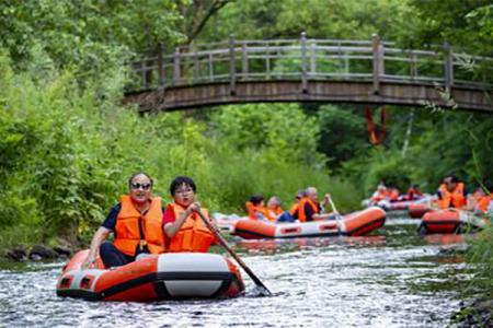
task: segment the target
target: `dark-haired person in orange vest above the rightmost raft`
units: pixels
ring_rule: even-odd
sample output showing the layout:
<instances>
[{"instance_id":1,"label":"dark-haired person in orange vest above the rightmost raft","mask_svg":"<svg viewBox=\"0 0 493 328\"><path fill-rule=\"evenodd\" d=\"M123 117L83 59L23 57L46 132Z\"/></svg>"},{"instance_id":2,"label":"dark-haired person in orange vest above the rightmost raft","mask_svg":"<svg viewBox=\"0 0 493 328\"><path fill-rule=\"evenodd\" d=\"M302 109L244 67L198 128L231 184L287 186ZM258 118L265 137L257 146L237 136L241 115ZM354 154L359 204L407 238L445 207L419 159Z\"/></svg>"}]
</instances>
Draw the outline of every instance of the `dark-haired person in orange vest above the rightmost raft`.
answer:
<instances>
[{"instance_id":1,"label":"dark-haired person in orange vest above the rightmost raft","mask_svg":"<svg viewBox=\"0 0 493 328\"><path fill-rule=\"evenodd\" d=\"M452 174L444 178L436 192L437 204L440 209L462 209L467 204L467 191L463 183L459 183Z\"/></svg>"}]
</instances>

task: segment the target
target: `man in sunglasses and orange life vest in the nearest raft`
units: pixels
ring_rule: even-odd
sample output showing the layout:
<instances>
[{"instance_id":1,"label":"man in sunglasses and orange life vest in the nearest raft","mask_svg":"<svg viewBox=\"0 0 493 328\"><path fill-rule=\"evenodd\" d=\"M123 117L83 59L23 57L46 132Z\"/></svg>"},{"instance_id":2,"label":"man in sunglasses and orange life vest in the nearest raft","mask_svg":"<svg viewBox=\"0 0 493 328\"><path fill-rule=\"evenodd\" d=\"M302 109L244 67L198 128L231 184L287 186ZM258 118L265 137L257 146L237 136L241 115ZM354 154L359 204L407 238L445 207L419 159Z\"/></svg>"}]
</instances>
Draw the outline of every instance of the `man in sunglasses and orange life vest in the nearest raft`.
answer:
<instances>
[{"instance_id":1,"label":"man in sunglasses and orange life vest in the nearest raft","mask_svg":"<svg viewBox=\"0 0 493 328\"><path fill-rule=\"evenodd\" d=\"M164 250L160 197L152 197L152 178L139 172L128 180L129 195L122 195L103 224L94 234L89 255L82 268L90 268L100 253L106 268L127 265L139 254L159 254ZM113 243L106 237L115 234Z\"/></svg>"}]
</instances>

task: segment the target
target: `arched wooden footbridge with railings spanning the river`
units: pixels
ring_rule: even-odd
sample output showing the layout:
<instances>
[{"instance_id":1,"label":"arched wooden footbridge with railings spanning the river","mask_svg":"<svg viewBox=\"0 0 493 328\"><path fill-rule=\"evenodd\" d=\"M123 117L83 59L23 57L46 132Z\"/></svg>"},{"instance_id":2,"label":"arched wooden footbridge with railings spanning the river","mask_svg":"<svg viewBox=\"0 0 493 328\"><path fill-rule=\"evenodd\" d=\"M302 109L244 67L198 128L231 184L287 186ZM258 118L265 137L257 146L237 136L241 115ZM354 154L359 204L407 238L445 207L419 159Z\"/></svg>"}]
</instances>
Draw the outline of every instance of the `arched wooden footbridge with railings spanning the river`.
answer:
<instances>
[{"instance_id":1,"label":"arched wooden footbridge with railings spanning the river","mask_svg":"<svg viewBox=\"0 0 493 328\"><path fill-rule=\"evenodd\" d=\"M179 47L133 62L126 103L142 112L254 102L392 104L493 113L493 58L394 43L236 40Z\"/></svg>"}]
</instances>

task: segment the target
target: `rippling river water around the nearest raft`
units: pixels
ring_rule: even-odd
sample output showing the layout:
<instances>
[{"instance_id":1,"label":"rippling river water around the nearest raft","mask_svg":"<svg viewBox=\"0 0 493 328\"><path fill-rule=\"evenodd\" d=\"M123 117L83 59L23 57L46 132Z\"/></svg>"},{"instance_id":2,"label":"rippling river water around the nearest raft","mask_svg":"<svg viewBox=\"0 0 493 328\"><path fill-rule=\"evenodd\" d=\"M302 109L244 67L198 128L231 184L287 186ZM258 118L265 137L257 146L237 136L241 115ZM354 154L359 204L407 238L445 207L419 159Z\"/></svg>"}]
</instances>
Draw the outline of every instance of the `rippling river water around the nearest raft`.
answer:
<instances>
[{"instance_id":1,"label":"rippling river water around the nearest raft","mask_svg":"<svg viewBox=\"0 0 493 328\"><path fill-rule=\"evenodd\" d=\"M470 276L461 236L420 237L388 219L372 236L238 241L274 296L151 304L57 297L62 262L0 270L0 327L445 327ZM460 254L460 251L459 251Z\"/></svg>"}]
</instances>

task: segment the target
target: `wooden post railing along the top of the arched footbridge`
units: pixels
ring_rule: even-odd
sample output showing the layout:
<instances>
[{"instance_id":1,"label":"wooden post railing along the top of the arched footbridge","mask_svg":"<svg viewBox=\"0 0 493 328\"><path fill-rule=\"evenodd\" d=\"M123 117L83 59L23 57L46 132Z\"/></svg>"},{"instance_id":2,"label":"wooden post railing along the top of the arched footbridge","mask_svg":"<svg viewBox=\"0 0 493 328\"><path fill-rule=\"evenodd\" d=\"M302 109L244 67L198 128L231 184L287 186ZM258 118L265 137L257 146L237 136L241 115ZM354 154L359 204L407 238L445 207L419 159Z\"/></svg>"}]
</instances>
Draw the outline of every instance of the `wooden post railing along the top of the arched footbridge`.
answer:
<instances>
[{"instance_id":1,"label":"wooden post railing along the top of the arched footbridge","mask_svg":"<svg viewBox=\"0 0 493 328\"><path fill-rule=\"evenodd\" d=\"M174 87L241 81L297 80L437 83L444 86L491 87L493 59L442 49L397 48L375 35L371 40L299 39L237 40L158 48L156 56L133 62L133 89Z\"/></svg>"}]
</instances>

